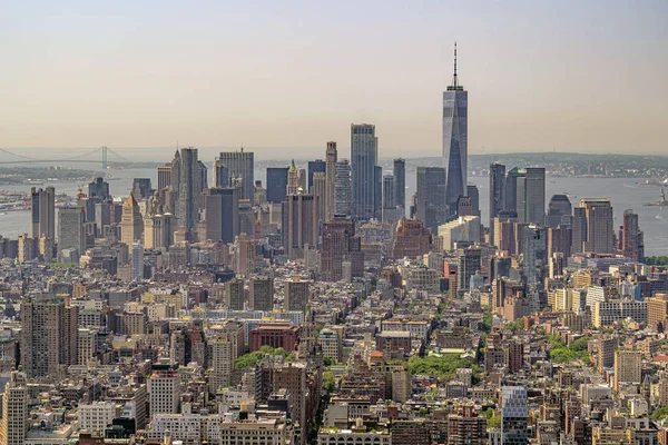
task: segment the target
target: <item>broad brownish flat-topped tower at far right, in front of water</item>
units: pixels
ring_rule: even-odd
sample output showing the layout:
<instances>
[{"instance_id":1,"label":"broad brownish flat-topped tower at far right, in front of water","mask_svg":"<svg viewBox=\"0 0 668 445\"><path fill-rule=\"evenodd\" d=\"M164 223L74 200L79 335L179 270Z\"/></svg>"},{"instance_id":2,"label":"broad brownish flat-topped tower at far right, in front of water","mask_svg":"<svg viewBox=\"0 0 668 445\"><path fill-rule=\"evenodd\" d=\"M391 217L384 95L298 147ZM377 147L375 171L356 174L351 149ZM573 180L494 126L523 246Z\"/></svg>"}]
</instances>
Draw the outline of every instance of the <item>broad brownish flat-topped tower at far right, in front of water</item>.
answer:
<instances>
[{"instance_id":1,"label":"broad brownish flat-topped tower at far right, in front of water","mask_svg":"<svg viewBox=\"0 0 668 445\"><path fill-rule=\"evenodd\" d=\"M608 198L582 198L580 199L580 207L584 209L587 227L582 251L615 254L615 230L612 228L610 200Z\"/></svg>"}]
</instances>

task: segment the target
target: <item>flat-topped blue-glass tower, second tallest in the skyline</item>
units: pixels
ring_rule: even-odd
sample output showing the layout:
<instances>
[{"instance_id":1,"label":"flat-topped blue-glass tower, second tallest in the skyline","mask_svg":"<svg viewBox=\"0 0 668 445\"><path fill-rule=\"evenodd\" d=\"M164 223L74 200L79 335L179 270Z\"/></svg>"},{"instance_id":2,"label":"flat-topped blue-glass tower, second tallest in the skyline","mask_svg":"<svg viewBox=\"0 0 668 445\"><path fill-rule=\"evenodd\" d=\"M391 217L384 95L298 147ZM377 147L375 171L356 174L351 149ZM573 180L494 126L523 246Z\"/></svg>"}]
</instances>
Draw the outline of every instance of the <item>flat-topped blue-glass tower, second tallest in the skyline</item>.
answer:
<instances>
[{"instance_id":1,"label":"flat-topped blue-glass tower, second tallest in the skyline","mask_svg":"<svg viewBox=\"0 0 668 445\"><path fill-rule=\"evenodd\" d=\"M351 168L353 180L353 217L375 217L377 138L375 126L351 125Z\"/></svg>"}]
</instances>

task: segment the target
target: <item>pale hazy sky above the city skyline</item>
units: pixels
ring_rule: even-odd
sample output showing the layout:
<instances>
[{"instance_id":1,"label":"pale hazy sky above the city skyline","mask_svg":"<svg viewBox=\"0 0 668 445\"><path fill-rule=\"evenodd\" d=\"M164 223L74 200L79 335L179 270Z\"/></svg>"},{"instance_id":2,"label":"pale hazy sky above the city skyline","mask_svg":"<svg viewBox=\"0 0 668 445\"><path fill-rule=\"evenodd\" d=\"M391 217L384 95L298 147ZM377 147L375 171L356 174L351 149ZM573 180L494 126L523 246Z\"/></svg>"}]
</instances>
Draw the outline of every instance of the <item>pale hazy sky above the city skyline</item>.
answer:
<instances>
[{"instance_id":1,"label":"pale hazy sky above the city skyline","mask_svg":"<svg viewBox=\"0 0 668 445\"><path fill-rule=\"evenodd\" d=\"M0 147L668 154L668 1L4 1ZM299 150L303 151L303 150Z\"/></svg>"}]
</instances>

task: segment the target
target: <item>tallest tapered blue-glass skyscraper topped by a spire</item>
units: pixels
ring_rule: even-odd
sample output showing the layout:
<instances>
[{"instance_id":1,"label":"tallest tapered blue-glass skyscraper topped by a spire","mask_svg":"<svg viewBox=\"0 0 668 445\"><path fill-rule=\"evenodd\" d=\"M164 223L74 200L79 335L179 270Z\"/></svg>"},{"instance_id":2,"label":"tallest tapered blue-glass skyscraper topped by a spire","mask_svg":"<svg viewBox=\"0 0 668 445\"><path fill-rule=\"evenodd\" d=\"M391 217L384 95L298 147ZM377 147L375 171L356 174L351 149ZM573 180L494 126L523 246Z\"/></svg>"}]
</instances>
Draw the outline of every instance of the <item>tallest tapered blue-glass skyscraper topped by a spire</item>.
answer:
<instances>
[{"instance_id":1,"label":"tallest tapered blue-glass skyscraper topped by a spire","mask_svg":"<svg viewBox=\"0 0 668 445\"><path fill-rule=\"evenodd\" d=\"M456 43L452 85L443 91L443 159L448 168L446 202L454 212L456 199L466 191L469 92L456 78Z\"/></svg>"}]
</instances>

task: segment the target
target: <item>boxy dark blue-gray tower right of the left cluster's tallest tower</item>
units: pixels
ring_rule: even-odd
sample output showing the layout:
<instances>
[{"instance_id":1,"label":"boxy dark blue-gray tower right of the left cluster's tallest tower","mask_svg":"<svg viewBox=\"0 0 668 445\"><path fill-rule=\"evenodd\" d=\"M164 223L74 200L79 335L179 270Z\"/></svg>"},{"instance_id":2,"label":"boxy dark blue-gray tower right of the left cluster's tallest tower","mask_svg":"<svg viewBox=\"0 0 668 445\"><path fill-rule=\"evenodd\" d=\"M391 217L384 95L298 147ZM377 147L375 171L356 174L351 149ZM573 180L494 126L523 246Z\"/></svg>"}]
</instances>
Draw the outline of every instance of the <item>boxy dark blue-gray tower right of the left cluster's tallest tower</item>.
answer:
<instances>
[{"instance_id":1,"label":"boxy dark blue-gray tower right of the left cluster's tallest tower","mask_svg":"<svg viewBox=\"0 0 668 445\"><path fill-rule=\"evenodd\" d=\"M239 234L239 189L212 188L205 197L207 238L234 243Z\"/></svg>"}]
</instances>

